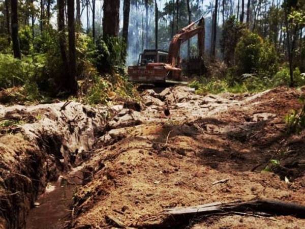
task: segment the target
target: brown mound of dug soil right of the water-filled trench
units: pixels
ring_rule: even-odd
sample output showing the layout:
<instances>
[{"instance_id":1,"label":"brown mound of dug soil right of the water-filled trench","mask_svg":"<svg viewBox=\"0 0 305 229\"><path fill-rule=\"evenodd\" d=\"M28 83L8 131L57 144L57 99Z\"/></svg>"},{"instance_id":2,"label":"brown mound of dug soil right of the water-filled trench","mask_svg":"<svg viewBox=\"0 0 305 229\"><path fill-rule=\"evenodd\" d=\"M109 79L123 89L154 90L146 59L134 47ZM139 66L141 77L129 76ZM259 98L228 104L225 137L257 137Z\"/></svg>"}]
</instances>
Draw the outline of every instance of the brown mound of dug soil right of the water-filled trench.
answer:
<instances>
[{"instance_id":1,"label":"brown mound of dug soil right of the water-filled trench","mask_svg":"<svg viewBox=\"0 0 305 229\"><path fill-rule=\"evenodd\" d=\"M140 111L113 107L116 115L86 162L86 184L75 194L67 227L305 228L293 216L163 214L168 207L257 197L305 204L305 136L288 134L284 121L300 108L301 94L277 88L199 96L176 87L145 91ZM281 165L262 171L270 159Z\"/></svg>"}]
</instances>

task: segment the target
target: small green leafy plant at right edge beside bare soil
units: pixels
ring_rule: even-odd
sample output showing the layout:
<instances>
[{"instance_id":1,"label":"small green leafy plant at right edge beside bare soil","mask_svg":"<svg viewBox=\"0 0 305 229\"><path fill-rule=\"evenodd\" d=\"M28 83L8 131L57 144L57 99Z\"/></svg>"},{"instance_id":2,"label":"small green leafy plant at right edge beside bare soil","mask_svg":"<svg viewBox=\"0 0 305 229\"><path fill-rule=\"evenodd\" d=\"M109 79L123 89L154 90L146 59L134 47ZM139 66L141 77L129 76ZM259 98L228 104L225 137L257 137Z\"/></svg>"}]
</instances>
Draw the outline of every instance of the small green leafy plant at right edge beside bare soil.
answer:
<instances>
[{"instance_id":1,"label":"small green leafy plant at right edge beside bare soil","mask_svg":"<svg viewBox=\"0 0 305 229\"><path fill-rule=\"evenodd\" d=\"M289 132L300 133L305 128L305 99L301 97L299 102L302 108L297 110L291 110L289 114L285 116L285 122Z\"/></svg>"}]
</instances>

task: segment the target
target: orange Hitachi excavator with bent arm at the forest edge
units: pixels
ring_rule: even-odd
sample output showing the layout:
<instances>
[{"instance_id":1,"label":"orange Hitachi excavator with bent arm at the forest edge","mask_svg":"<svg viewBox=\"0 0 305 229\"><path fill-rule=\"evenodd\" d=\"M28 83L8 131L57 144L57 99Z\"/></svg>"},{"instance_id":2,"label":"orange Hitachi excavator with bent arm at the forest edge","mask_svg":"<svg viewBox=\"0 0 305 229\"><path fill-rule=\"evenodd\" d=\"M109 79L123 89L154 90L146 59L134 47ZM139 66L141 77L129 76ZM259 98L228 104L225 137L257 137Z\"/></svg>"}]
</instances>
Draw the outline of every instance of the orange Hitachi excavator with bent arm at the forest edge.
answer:
<instances>
[{"instance_id":1,"label":"orange Hitachi excavator with bent arm at the forest edge","mask_svg":"<svg viewBox=\"0 0 305 229\"><path fill-rule=\"evenodd\" d=\"M145 49L139 55L138 65L128 67L130 81L150 84L187 84L188 77L182 74L180 46L196 35L198 36L199 56L192 58L191 63L187 64L187 71L191 73L197 69L201 72L204 68L203 17L182 28L171 40L168 52L161 49Z\"/></svg>"}]
</instances>

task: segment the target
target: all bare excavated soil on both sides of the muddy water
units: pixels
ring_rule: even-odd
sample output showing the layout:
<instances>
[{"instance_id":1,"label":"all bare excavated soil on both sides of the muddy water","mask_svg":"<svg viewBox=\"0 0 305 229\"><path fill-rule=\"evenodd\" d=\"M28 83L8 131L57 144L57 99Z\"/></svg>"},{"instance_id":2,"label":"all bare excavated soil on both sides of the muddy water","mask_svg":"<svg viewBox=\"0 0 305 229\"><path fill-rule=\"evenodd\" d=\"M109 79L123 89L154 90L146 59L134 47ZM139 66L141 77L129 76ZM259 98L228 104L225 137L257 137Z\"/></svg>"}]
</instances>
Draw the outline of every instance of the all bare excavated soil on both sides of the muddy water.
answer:
<instances>
[{"instance_id":1,"label":"all bare excavated soil on both sides of the muddy water","mask_svg":"<svg viewBox=\"0 0 305 229\"><path fill-rule=\"evenodd\" d=\"M83 109L73 103L60 110L60 103L41 105L55 106L41 110L43 117L34 107L22 107L36 118L0 138L3 228L22 225L47 182L79 165L82 186L66 228L304 228L305 220L293 216L232 213L178 220L163 214L167 207L255 197L305 204L305 135L287 134L283 121L290 109L300 108L301 93L277 88L256 95L199 96L175 87L146 90L141 107ZM62 118L70 109L74 113ZM5 117L16 107L1 110ZM107 121L106 110L112 114ZM279 157L276 173L261 173Z\"/></svg>"}]
</instances>

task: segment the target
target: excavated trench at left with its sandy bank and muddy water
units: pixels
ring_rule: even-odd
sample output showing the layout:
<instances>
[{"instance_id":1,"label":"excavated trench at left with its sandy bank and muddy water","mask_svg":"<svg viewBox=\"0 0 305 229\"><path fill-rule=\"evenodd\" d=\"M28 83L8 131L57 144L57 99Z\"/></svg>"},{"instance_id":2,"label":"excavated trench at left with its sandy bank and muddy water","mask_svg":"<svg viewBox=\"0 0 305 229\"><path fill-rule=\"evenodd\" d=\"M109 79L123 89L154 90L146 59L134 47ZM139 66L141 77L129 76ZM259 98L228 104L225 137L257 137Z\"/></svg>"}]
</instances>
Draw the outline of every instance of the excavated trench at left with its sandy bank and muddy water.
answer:
<instances>
[{"instance_id":1,"label":"excavated trench at left with its sandy bank and muddy water","mask_svg":"<svg viewBox=\"0 0 305 229\"><path fill-rule=\"evenodd\" d=\"M66 102L0 106L0 228L61 228L109 110Z\"/></svg>"}]
</instances>

